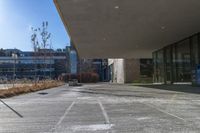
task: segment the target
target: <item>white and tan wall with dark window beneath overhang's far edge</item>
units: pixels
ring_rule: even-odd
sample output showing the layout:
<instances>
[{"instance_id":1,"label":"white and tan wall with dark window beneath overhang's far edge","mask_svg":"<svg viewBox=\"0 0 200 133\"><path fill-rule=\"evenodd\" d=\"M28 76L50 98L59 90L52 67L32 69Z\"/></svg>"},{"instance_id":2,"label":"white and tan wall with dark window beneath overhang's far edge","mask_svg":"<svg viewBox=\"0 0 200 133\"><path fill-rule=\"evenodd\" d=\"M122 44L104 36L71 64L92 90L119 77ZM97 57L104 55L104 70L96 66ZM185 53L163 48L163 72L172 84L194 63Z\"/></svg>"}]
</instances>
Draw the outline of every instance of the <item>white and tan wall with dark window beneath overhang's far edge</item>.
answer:
<instances>
[{"instance_id":1,"label":"white and tan wall with dark window beneath overhang's far edge","mask_svg":"<svg viewBox=\"0 0 200 133\"><path fill-rule=\"evenodd\" d=\"M152 82L152 59L109 59L110 80L114 83Z\"/></svg>"}]
</instances>

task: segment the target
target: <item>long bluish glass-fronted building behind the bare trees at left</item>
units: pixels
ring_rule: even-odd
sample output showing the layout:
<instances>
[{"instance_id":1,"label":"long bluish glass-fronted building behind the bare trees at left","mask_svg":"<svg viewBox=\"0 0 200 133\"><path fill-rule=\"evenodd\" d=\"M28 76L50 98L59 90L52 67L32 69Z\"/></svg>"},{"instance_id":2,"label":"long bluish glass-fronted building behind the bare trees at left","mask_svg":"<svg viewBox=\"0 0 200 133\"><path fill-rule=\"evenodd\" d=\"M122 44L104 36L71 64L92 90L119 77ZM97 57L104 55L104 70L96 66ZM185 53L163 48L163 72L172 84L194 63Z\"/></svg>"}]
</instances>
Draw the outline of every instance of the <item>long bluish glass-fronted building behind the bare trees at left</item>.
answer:
<instances>
[{"instance_id":1,"label":"long bluish glass-fronted building behind the bare trees at left","mask_svg":"<svg viewBox=\"0 0 200 133\"><path fill-rule=\"evenodd\" d=\"M0 77L57 78L68 70L66 49L0 49Z\"/></svg>"}]
</instances>

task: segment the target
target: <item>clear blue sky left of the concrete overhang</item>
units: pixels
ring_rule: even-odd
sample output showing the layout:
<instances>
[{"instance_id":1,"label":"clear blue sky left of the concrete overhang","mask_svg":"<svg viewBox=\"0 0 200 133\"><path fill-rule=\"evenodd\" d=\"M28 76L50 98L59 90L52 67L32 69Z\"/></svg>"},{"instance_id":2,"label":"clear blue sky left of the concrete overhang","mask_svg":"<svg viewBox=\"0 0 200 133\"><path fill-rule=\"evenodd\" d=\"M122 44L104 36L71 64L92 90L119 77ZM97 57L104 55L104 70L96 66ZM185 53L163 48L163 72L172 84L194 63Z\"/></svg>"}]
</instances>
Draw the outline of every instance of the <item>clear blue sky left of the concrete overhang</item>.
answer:
<instances>
[{"instance_id":1,"label":"clear blue sky left of the concrete overhang","mask_svg":"<svg viewBox=\"0 0 200 133\"><path fill-rule=\"evenodd\" d=\"M49 22L53 48L69 45L69 37L53 0L0 0L0 48L32 50L31 27Z\"/></svg>"}]
</instances>

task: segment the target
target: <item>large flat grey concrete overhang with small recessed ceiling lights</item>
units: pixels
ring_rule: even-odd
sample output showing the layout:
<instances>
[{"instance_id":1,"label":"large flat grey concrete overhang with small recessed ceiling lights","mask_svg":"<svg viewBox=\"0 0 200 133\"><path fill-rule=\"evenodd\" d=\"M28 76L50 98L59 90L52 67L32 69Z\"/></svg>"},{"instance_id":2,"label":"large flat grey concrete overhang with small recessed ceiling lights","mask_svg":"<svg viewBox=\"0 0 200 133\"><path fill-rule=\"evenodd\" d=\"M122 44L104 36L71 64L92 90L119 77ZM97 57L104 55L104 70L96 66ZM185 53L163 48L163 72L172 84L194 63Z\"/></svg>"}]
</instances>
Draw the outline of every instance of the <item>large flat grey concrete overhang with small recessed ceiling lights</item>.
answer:
<instances>
[{"instance_id":1,"label":"large flat grey concrete overhang with small recessed ceiling lights","mask_svg":"<svg viewBox=\"0 0 200 133\"><path fill-rule=\"evenodd\" d=\"M54 0L84 58L146 58L200 31L199 0Z\"/></svg>"}]
</instances>

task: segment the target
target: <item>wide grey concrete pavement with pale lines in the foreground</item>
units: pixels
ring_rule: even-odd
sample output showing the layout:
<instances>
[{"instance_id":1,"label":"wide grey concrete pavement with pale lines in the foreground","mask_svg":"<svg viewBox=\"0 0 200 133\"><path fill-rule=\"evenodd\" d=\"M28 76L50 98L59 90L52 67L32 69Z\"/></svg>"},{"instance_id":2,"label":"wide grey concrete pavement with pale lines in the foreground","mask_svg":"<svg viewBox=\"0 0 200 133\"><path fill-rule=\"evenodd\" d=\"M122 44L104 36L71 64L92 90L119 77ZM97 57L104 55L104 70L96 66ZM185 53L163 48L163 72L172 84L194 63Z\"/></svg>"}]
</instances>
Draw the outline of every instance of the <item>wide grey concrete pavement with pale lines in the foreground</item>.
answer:
<instances>
[{"instance_id":1,"label":"wide grey concrete pavement with pale lines in the foreground","mask_svg":"<svg viewBox=\"0 0 200 133\"><path fill-rule=\"evenodd\" d=\"M0 101L0 133L190 133L200 95L145 86L67 85Z\"/></svg>"}]
</instances>

